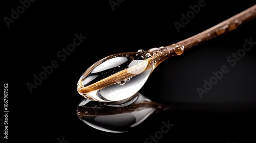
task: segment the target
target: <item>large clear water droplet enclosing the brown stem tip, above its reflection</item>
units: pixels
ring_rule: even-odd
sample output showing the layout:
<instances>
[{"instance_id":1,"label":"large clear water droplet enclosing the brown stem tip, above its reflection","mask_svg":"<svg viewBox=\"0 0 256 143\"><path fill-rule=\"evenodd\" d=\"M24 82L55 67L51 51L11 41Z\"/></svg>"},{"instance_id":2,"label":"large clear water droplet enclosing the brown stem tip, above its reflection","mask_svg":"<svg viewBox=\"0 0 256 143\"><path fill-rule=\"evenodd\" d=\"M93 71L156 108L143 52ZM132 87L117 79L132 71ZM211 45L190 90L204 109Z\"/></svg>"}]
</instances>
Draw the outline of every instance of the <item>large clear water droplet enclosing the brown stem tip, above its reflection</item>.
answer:
<instances>
[{"instance_id":1,"label":"large clear water droplet enclosing the brown stem tip, above its reflection","mask_svg":"<svg viewBox=\"0 0 256 143\"><path fill-rule=\"evenodd\" d=\"M105 57L83 73L77 90L81 96L92 101L129 99L142 88L157 65L170 56L181 55L181 51L183 53L184 47L178 47L161 46L148 51L138 50Z\"/></svg>"}]
</instances>

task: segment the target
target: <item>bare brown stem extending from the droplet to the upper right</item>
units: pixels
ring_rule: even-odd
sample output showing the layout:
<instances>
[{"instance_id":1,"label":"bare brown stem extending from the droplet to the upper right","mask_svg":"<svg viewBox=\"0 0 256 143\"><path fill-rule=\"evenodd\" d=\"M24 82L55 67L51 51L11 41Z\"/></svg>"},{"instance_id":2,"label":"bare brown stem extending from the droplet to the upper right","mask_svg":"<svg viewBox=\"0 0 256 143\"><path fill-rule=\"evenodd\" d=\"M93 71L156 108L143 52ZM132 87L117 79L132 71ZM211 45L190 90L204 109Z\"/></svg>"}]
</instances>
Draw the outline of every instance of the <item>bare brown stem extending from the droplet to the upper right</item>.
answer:
<instances>
[{"instance_id":1,"label":"bare brown stem extending from the droplet to the upper right","mask_svg":"<svg viewBox=\"0 0 256 143\"><path fill-rule=\"evenodd\" d=\"M248 22L256 17L256 5L222 21L218 25L211 27L197 35L177 42L176 44L183 46L184 50L189 50L198 44L215 38L219 35L237 29L242 23ZM168 45L171 46L171 45Z\"/></svg>"}]
</instances>

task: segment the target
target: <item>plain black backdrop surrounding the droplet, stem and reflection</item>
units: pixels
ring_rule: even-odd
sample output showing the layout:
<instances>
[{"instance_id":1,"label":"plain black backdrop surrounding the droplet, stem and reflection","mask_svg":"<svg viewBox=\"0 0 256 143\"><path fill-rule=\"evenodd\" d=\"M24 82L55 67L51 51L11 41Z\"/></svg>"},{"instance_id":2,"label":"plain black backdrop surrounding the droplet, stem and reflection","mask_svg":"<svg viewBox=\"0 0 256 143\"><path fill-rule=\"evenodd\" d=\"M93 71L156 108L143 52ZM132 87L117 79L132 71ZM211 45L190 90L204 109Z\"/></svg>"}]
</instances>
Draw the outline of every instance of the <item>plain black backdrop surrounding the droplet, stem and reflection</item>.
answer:
<instances>
[{"instance_id":1,"label":"plain black backdrop surrounding the droplet, stem and reflection","mask_svg":"<svg viewBox=\"0 0 256 143\"><path fill-rule=\"evenodd\" d=\"M64 137L69 142L144 142L168 120L175 126L158 142L255 141L255 46L235 66L226 60L243 48L244 39L256 41L255 20L170 58L153 71L140 93L156 102L175 104L172 110L152 114L126 133L94 129L76 115L83 100L77 81L99 59L173 44L254 5L252 1L205 1L206 6L178 32L174 22L181 22L181 14L198 2L123 1L113 11L109 1L35 1L9 28L4 17L11 17L11 9L20 3L2 4L8 141L58 142ZM57 52L80 33L87 39L61 61ZM30 93L26 84L33 83L33 75L38 76L42 66L53 60L59 66ZM196 88L203 88L203 80L223 65L229 72L200 98ZM2 122L2 138L3 130Z\"/></svg>"}]
</instances>

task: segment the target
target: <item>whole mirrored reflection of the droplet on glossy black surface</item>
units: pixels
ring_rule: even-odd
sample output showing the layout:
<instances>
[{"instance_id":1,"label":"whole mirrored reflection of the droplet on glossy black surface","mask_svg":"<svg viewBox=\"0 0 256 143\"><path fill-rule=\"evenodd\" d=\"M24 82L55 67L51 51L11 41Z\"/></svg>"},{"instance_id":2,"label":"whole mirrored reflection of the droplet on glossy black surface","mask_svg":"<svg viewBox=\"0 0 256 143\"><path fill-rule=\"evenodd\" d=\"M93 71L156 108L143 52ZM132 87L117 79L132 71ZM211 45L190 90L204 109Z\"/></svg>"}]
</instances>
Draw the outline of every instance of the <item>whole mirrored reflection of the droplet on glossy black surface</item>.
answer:
<instances>
[{"instance_id":1,"label":"whole mirrored reflection of the droplet on glossy black surface","mask_svg":"<svg viewBox=\"0 0 256 143\"><path fill-rule=\"evenodd\" d=\"M155 111L164 109L164 106L152 102L141 93L137 93L134 99L128 105L123 104L126 106L112 106L84 99L77 106L77 116L95 129L117 133L130 131Z\"/></svg>"}]
</instances>

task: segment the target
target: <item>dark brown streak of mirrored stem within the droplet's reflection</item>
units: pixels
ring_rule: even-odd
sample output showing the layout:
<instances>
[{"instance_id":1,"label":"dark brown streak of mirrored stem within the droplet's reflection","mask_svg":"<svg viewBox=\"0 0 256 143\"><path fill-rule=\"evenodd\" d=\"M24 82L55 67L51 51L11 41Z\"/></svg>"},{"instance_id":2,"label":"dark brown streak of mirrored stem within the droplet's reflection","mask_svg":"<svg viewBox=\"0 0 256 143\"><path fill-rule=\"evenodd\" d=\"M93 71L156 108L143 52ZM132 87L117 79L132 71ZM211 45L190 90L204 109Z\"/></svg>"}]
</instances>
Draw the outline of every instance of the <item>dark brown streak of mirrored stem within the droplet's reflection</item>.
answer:
<instances>
[{"instance_id":1,"label":"dark brown streak of mirrored stem within the droplet's reflection","mask_svg":"<svg viewBox=\"0 0 256 143\"><path fill-rule=\"evenodd\" d=\"M103 116L113 114L130 113L136 110L142 110L145 108L155 108L155 113L170 109L170 106L156 102L144 101L142 103L130 104L124 107L111 107L106 105L95 107L81 107L78 112L78 116Z\"/></svg>"}]
</instances>

